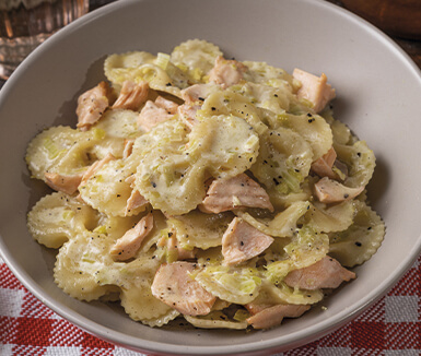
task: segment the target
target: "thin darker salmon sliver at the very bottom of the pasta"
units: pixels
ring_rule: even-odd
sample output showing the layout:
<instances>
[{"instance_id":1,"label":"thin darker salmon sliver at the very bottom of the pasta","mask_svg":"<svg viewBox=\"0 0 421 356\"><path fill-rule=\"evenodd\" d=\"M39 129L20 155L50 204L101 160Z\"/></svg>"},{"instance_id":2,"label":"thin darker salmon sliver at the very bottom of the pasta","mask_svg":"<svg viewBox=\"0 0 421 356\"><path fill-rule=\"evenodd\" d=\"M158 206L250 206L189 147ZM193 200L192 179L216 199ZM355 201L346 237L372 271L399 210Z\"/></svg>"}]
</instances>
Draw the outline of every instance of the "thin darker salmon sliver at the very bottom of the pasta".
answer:
<instances>
[{"instance_id":1,"label":"thin darker salmon sliver at the very bottom of the pasta","mask_svg":"<svg viewBox=\"0 0 421 356\"><path fill-rule=\"evenodd\" d=\"M299 318L311 306L303 305L276 305L266 308L253 317L247 318L247 322L255 329L269 329L279 325L283 318Z\"/></svg>"}]
</instances>

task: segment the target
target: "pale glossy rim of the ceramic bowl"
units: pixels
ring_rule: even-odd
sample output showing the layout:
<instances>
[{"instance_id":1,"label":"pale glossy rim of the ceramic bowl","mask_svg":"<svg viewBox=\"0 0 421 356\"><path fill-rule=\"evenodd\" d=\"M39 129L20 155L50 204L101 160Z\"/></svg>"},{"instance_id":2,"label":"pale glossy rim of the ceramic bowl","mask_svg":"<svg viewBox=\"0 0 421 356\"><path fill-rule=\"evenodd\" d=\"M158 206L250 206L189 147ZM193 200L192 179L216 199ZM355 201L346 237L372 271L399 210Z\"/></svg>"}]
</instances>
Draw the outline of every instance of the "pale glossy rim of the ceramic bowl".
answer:
<instances>
[{"instance_id":1,"label":"pale glossy rim of the ceramic bowl","mask_svg":"<svg viewBox=\"0 0 421 356\"><path fill-rule=\"evenodd\" d=\"M112 3L108 3L102 8L98 8L94 11L89 12L82 17L73 21L65 28L58 31L54 36L48 38L44 44L37 47L15 70L11 78L5 82L3 87L0 91L0 105L2 98L7 96L8 92L13 90L13 83L19 81L21 73L30 66L31 59L37 56L40 56L44 48L48 46L55 46L55 43L58 43L61 37L66 37L70 34L73 28L77 26L92 22L100 15L108 14L115 9L120 7L130 7L131 4L144 2L145 0L119 0ZM347 20L356 24L356 26L364 27L365 31L370 32L375 38L382 41L385 46L388 46L391 51L398 55L400 63L409 67L413 72L413 75L420 83L421 87L421 69L412 61L408 54L395 43L389 36L383 33L379 28L375 27L364 19L359 15L350 12L347 9L340 8L334 3L327 2L326 0L295 0L302 3L305 3L311 7L320 7L325 8L328 11L331 11L337 16L343 16ZM387 234L387 233L386 233ZM390 276L384 281L374 289L372 289L364 298L355 301L350 308L342 310L341 312L317 323L317 330L315 327L306 328L303 331L294 332L289 335L280 336L277 339L271 339L268 341L261 341L259 343L245 344L247 349L239 349L237 345L230 346L183 346L183 345L171 345L171 353L168 353L168 346L166 344L154 342L154 341L144 341L136 336L126 335L114 330L109 330L106 327L96 324L91 321L89 318L85 318L82 315L74 315L74 311L65 306L57 304L52 298L43 290L43 288L32 278L30 275L19 265L15 259L9 253L5 244L0 235L0 257L3 259L4 263L9 266L11 272L16 276L16 278L25 286L25 288L34 295L39 301L45 306L54 310L61 318L71 322L72 324L79 327L81 330L101 337L107 342L110 342L115 345L122 346L129 349L138 352L153 352L153 353L164 353L166 355L214 355L214 354L238 354L242 352L242 355L247 355L249 353L258 353L264 351L276 351L282 347L282 351L291 349L293 347L299 347L306 343L313 342L320 339L321 336L332 332L334 330L342 327L348 323L350 320L356 318L360 313L371 307L375 301L384 297L384 295L401 278L401 276L411 268L416 262L417 258L421 253L421 233L418 237L417 244L413 246L412 250L408 254L408 258L402 261L398 268L395 270ZM166 348L166 349L164 349Z\"/></svg>"}]
</instances>

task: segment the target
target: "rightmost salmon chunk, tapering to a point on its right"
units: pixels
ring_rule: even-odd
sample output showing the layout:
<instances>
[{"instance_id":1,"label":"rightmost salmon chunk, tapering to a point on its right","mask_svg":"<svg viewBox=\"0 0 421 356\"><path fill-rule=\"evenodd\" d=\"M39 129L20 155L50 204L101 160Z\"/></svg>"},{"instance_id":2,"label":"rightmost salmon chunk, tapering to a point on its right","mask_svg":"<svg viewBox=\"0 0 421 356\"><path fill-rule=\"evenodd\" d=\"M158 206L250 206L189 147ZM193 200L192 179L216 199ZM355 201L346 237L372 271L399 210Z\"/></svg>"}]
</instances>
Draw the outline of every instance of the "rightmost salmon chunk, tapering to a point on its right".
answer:
<instances>
[{"instance_id":1,"label":"rightmost salmon chunk, tapering to a point on its right","mask_svg":"<svg viewBox=\"0 0 421 356\"><path fill-rule=\"evenodd\" d=\"M364 190L364 187L350 188L341 185L340 182L329 179L328 177L321 178L314 185L314 191L317 199L321 203L340 203L346 200L350 200L359 195Z\"/></svg>"}]
</instances>

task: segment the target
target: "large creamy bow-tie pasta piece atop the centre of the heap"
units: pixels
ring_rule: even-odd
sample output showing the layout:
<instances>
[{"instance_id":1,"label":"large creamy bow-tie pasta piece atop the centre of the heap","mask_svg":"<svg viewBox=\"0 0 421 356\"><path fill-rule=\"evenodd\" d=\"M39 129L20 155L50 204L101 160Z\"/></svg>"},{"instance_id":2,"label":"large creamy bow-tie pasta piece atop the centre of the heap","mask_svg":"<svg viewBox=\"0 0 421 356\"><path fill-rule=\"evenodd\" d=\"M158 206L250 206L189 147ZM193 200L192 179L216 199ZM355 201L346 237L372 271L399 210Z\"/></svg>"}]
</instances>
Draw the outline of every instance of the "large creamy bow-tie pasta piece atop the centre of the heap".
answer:
<instances>
[{"instance_id":1,"label":"large creamy bow-tie pasta piece atop the centre of the heap","mask_svg":"<svg viewBox=\"0 0 421 356\"><path fill-rule=\"evenodd\" d=\"M148 135L162 140L148 140ZM225 116L199 122L188 135L179 121L167 121L140 141L144 144L139 150L142 159L136 187L154 209L169 215L196 209L204 198L208 178L246 170L258 150L258 138L247 122Z\"/></svg>"}]
</instances>

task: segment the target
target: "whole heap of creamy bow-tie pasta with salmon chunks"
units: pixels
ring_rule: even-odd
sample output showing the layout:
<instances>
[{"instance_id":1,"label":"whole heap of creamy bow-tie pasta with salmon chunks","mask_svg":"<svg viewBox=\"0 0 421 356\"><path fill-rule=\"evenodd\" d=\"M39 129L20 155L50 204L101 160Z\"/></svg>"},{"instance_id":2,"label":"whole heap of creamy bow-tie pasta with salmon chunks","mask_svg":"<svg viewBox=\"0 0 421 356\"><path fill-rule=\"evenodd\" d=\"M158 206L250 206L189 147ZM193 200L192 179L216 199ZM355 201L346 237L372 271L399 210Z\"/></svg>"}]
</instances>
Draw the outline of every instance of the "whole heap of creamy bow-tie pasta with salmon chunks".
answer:
<instances>
[{"instance_id":1,"label":"whole heap of creamy bow-tie pasta with salmon chunks","mask_svg":"<svg viewBox=\"0 0 421 356\"><path fill-rule=\"evenodd\" d=\"M28 229L59 249L54 277L70 296L120 300L150 327L269 329L381 246L365 195L375 156L334 118L325 74L199 39L112 55L104 72L77 127L40 132L26 155L55 190Z\"/></svg>"}]
</instances>

